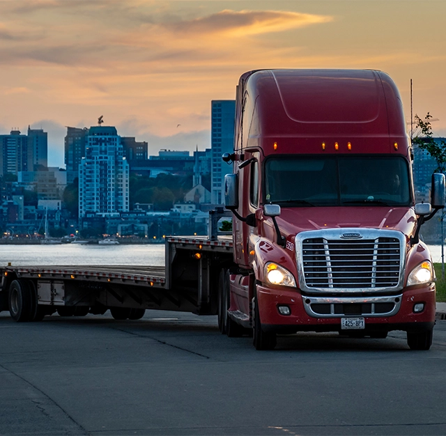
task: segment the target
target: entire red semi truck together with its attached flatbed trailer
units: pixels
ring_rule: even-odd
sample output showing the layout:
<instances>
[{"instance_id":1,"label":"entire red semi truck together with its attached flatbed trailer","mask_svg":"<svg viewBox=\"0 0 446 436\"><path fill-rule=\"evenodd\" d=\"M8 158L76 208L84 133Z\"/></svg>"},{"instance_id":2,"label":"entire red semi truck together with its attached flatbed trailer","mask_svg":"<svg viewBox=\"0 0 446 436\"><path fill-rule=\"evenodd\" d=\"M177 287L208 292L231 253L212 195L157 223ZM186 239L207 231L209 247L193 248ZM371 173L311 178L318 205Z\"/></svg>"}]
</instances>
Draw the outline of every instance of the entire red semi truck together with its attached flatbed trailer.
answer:
<instances>
[{"instance_id":1,"label":"entire red semi truck together with its attached flatbed trailer","mask_svg":"<svg viewBox=\"0 0 446 436\"><path fill-rule=\"evenodd\" d=\"M431 203L415 204L411 148L392 79L374 70L259 70L240 77L233 163L225 178L233 235L170 237L165 268L0 267L0 311L17 322L110 310L218 315L222 333L407 332L428 350L435 277L420 241L445 205L434 174Z\"/></svg>"}]
</instances>

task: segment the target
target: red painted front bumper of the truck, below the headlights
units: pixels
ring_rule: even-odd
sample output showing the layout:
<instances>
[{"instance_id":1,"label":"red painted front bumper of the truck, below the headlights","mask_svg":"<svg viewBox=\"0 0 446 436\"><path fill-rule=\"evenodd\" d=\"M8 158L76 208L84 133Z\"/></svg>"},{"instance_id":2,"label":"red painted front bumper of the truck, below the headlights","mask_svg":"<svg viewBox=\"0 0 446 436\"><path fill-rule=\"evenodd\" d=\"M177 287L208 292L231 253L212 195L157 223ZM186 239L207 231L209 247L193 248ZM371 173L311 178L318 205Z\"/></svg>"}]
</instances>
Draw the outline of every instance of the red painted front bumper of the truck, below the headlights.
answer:
<instances>
[{"instance_id":1,"label":"red painted front bumper of the truck, below the headlights","mask_svg":"<svg viewBox=\"0 0 446 436\"><path fill-rule=\"evenodd\" d=\"M404 330L406 332L422 332L431 329L435 324L435 284L429 283L417 288L403 289L397 295L387 297L396 301L397 311L380 316L379 313L367 315L360 313L348 313L337 315L337 309L331 307L330 313L317 314L309 311L309 299L312 297L302 297L300 290L291 288L268 288L257 285L257 298L259 301L260 320L263 330L266 332L277 332L291 334L295 332L341 332L341 318L364 318L365 329L360 330L364 334L367 332L390 332L391 330ZM305 303L307 298L307 303ZM352 302L351 297L323 297L330 305ZM353 297L355 304L371 304L374 297ZM424 303L424 310L415 313L413 308L417 303ZM288 316L279 313L279 306L288 306L291 314ZM305 308L307 306L307 308ZM306 310L307 309L307 310ZM312 313L310 315L309 313ZM395 313L396 312L396 313ZM343 330L344 332L348 332ZM354 330L350 330L353 332Z\"/></svg>"}]
</instances>

